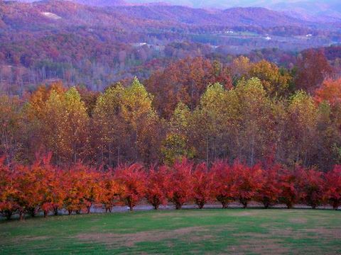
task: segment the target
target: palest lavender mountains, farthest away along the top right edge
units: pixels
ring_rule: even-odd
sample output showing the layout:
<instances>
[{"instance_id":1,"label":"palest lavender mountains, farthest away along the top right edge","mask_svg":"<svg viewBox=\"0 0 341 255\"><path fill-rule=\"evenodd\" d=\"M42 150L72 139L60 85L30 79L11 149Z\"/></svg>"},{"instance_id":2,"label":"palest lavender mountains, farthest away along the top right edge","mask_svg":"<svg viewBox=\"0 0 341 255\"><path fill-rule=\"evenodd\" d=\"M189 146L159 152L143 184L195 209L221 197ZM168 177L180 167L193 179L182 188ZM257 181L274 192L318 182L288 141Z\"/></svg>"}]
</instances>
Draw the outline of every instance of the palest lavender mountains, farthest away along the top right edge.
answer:
<instances>
[{"instance_id":1,"label":"palest lavender mountains, farthest away along the top right edge","mask_svg":"<svg viewBox=\"0 0 341 255\"><path fill-rule=\"evenodd\" d=\"M32 3L36 0L18 0L21 2ZM59 0L63 1L63 0ZM83 4L87 6L186 6L190 8L206 8L206 9L227 9L237 7L248 8L268 8L273 11L281 12L278 15L283 21L283 13L286 16L297 18L304 21L313 22L341 22L341 4L339 0L210 0L210 1L198 1L198 0L70 0L77 4ZM258 9L259 10L259 9ZM161 10L163 11L163 10ZM149 12L149 11L148 11ZM181 11L183 13L183 11ZM262 14L264 11L261 11ZM247 14L249 15L249 14ZM254 15L254 14L252 14ZM150 15L148 15L150 16ZM267 16L264 16L266 19ZM253 21L253 19L251 19ZM273 22L271 22L273 23ZM288 23L288 22L285 22ZM259 23L258 23L259 24Z\"/></svg>"}]
</instances>

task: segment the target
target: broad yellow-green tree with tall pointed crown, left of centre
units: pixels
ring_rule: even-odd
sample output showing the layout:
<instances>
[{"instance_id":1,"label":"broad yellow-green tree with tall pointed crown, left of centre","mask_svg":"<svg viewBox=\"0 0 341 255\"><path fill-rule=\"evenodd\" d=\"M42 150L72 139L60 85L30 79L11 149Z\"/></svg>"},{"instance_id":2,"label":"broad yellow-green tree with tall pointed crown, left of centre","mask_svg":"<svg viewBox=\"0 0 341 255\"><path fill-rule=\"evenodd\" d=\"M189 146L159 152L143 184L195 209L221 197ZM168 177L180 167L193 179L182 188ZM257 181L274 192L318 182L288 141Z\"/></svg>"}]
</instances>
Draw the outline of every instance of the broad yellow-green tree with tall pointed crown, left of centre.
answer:
<instances>
[{"instance_id":1,"label":"broad yellow-green tree with tall pointed crown, left of centre","mask_svg":"<svg viewBox=\"0 0 341 255\"><path fill-rule=\"evenodd\" d=\"M160 129L152 100L136 78L126 88L117 84L99 96L94 107L93 137L100 159L105 158L111 166L126 160L156 159Z\"/></svg>"}]
</instances>

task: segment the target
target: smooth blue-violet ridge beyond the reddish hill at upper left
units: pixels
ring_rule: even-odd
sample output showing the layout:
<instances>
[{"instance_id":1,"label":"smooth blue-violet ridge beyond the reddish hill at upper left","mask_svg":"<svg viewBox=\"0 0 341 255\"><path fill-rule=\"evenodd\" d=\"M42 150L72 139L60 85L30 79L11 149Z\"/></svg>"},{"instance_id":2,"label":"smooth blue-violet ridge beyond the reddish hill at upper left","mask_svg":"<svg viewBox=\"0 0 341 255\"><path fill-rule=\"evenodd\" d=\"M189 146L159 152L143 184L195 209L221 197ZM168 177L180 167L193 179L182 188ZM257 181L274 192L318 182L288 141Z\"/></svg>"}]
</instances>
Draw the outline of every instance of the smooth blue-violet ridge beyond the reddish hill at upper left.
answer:
<instances>
[{"instance_id":1,"label":"smooth blue-violet ridge beyond the reddish hill at upper left","mask_svg":"<svg viewBox=\"0 0 341 255\"><path fill-rule=\"evenodd\" d=\"M193 26L305 26L308 23L266 8L229 8L206 10L185 6L119 6L112 8L126 16L168 21Z\"/></svg>"}]
</instances>

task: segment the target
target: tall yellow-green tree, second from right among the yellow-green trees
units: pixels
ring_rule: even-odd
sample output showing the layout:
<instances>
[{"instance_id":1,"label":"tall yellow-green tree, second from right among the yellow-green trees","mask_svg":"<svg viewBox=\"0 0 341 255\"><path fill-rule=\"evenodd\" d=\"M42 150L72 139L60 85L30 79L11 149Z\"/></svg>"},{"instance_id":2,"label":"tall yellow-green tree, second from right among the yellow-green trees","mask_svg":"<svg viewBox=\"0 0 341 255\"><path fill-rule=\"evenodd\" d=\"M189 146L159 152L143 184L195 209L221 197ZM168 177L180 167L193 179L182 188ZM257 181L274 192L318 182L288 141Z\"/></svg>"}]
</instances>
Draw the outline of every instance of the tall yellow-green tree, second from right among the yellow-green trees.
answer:
<instances>
[{"instance_id":1,"label":"tall yellow-green tree, second from right among the yellow-green trees","mask_svg":"<svg viewBox=\"0 0 341 255\"><path fill-rule=\"evenodd\" d=\"M258 78L242 79L230 93L238 98L236 136L237 158L244 159L250 165L266 155L271 145L273 121L271 119L272 102Z\"/></svg>"}]
</instances>

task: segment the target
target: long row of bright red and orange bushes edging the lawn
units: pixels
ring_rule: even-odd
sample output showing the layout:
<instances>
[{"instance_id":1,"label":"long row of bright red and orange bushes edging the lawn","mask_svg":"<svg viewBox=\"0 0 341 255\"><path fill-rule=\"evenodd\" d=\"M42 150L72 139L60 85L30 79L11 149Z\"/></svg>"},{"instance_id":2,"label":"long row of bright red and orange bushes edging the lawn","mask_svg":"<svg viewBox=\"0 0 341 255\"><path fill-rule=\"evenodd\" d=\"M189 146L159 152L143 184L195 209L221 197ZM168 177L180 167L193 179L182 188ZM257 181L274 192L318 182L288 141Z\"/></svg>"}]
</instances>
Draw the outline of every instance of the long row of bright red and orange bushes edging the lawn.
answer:
<instances>
[{"instance_id":1,"label":"long row of bright red and orange bushes edging the lawn","mask_svg":"<svg viewBox=\"0 0 341 255\"><path fill-rule=\"evenodd\" d=\"M133 210L146 199L155 209L171 202L176 209L194 202L199 208L219 201L223 208L232 201L258 201L269 208L284 203L292 208L305 203L316 208L329 203L334 209L341 205L341 166L328 173L296 167L288 170L280 165L249 167L235 162L218 161L208 168L188 160L172 167L149 169L140 164L117 169L93 169L75 164L60 169L50 164L50 157L38 159L31 166L8 166L0 160L0 212L10 218L18 213L36 215L43 211L58 214L90 212L92 206L111 211L117 204Z\"/></svg>"}]
</instances>

